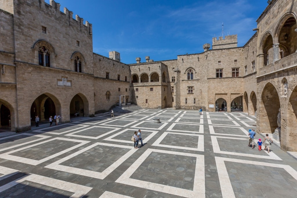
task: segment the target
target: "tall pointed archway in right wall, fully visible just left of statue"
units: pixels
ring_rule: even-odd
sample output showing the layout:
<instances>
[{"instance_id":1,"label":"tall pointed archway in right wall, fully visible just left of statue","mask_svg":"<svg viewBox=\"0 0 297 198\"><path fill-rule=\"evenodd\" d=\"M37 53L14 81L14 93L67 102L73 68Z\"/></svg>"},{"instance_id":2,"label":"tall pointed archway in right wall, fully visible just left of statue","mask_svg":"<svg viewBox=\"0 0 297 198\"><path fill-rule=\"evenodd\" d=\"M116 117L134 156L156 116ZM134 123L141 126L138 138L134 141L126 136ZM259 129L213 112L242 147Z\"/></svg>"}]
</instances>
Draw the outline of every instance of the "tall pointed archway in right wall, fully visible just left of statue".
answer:
<instances>
[{"instance_id":1,"label":"tall pointed archway in right wall, fully visible just left of statue","mask_svg":"<svg viewBox=\"0 0 297 198\"><path fill-rule=\"evenodd\" d=\"M258 123L261 123L261 132L273 133L277 126L277 114L279 113L280 102L276 88L267 83L262 91Z\"/></svg>"}]
</instances>

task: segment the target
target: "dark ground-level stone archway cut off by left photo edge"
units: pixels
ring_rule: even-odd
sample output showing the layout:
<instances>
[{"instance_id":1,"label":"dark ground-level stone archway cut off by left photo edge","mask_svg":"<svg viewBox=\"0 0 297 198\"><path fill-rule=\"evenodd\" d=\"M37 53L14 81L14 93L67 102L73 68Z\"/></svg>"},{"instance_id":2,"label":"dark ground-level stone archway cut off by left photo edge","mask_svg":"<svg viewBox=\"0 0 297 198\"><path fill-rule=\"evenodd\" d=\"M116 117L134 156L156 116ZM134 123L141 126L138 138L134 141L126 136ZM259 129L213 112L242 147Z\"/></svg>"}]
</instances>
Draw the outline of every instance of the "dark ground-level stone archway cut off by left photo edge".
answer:
<instances>
[{"instance_id":1,"label":"dark ground-level stone archway cut off by left photo edge","mask_svg":"<svg viewBox=\"0 0 297 198\"><path fill-rule=\"evenodd\" d=\"M6 100L0 99L0 126L7 126L8 123L10 131L16 131L16 120L17 117L13 106Z\"/></svg>"}]
</instances>

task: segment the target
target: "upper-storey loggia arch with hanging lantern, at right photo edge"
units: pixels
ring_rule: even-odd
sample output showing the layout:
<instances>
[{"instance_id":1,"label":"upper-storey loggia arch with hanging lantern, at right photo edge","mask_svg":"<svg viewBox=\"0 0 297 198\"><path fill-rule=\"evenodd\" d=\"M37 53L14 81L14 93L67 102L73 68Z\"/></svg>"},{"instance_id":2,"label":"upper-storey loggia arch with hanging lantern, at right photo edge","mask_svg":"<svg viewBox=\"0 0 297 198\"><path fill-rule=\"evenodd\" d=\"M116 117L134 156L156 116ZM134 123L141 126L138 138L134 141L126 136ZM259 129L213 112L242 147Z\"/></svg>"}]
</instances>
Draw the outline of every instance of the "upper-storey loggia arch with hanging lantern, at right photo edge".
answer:
<instances>
[{"instance_id":1,"label":"upper-storey loggia arch with hanging lantern, at right photo edge","mask_svg":"<svg viewBox=\"0 0 297 198\"><path fill-rule=\"evenodd\" d=\"M280 58L289 56L296 52L297 28L296 15L294 12L285 13L278 21L274 31L274 37L279 42Z\"/></svg>"}]
</instances>

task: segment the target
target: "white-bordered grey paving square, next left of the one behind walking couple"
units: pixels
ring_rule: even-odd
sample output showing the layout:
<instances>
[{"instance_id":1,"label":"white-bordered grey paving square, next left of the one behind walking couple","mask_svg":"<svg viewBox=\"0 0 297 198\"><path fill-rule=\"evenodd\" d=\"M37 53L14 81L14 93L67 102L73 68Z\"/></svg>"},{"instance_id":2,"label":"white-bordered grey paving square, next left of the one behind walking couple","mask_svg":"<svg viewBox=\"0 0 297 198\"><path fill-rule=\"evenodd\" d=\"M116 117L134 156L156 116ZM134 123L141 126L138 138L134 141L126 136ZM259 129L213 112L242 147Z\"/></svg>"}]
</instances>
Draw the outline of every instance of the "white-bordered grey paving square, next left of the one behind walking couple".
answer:
<instances>
[{"instance_id":1,"label":"white-bordered grey paving square, next left of the one behind walking couple","mask_svg":"<svg viewBox=\"0 0 297 198\"><path fill-rule=\"evenodd\" d=\"M113 133L119 129L121 128L107 126L91 126L89 128L65 134L65 136L99 139L100 137Z\"/></svg>"}]
</instances>

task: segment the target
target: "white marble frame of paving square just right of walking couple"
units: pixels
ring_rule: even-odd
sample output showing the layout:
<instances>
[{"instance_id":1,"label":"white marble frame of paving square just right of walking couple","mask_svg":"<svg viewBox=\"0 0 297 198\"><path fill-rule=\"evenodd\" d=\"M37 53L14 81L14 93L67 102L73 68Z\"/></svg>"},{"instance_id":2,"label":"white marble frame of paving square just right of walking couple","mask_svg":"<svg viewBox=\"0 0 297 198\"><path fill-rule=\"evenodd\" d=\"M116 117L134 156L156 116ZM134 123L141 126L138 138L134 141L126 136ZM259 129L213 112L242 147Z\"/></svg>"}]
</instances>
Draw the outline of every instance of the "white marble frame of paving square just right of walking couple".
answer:
<instances>
[{"instance_id":1,"label":"white marble frame of paving square just right of walking couple","mask_svg":"<svg viewBox=\"0 0 297 198\"><path fill-rule=\"evenodd\" d=\"M197 142L197 148L192 147L184 147L184 146L173 146L173 145L165 145L161 144L162 140L168 135L168 134L179 134L183 135L184 139L188 139L189 136L198 136L198 142ZM197 134L186 134L186 133L175 133L175 132L164 132L153 144L152 146L161 146L161 147L167 147L167 148L178 148L178 149L184 149L184 150L191 150L191 151L204 151L204 136L203 135L197 135ZM195 145L194 145L195 146Z\"/></svg>"}]
</instances>

